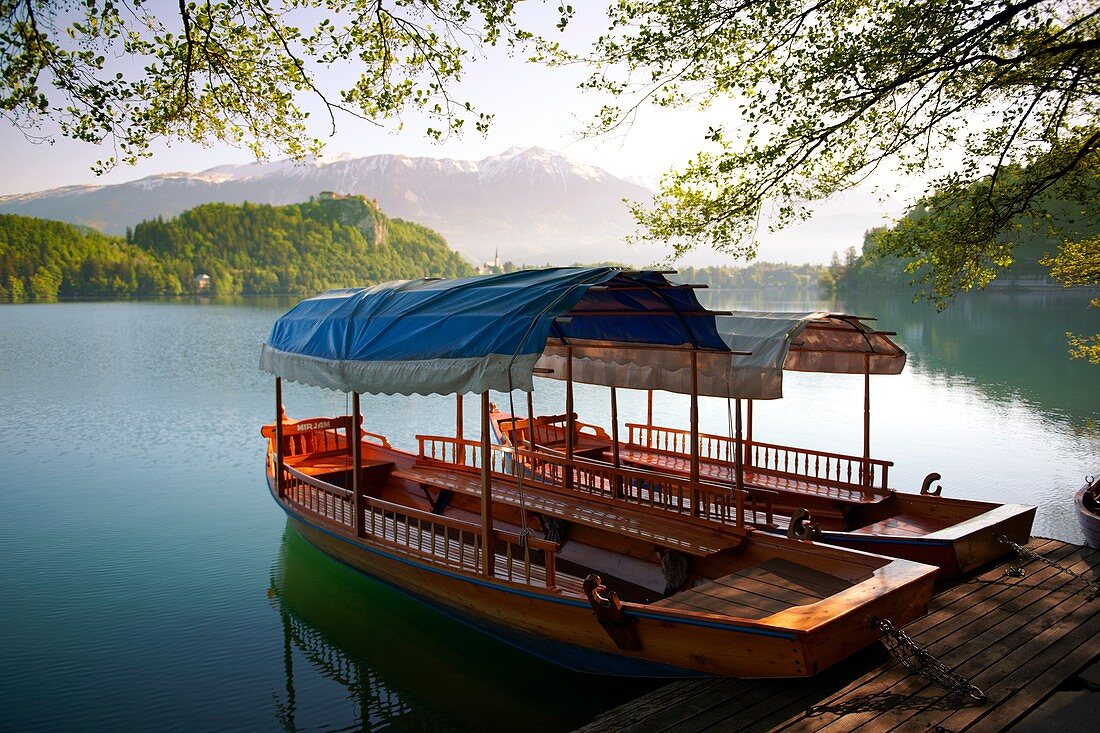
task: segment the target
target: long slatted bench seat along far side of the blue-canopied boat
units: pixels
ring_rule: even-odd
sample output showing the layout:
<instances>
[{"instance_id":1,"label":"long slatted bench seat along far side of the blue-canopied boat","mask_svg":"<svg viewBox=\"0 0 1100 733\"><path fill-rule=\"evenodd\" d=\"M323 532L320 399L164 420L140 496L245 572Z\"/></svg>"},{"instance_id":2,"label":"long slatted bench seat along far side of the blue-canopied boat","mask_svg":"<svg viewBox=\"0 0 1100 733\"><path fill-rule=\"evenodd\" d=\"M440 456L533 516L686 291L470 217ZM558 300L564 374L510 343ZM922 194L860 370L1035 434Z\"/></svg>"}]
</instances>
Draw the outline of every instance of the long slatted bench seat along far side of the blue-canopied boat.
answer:
<instances>
[{"instance_id":1,"label":"long slatted bench seat along far side of the blue-canopied boat","mask_svg":"<svg viewBox=\"0 0 1100 733\"><path fill-rule=\"evenodd\" d=\"M394 471L393 477L439 491L481 496L479 473L433 466L413 466ZM516 483L495 479L492 490L493 501L519 506L519 488ZM741 537L730 529L700 526L676 516L660 516L630 506L597 503L586 496L578 496L574 500L538 484L524 484L524 507L568 522L630 535L661 547L700 557L737 547L741 543Z\"/></svg>"}]
</instances>

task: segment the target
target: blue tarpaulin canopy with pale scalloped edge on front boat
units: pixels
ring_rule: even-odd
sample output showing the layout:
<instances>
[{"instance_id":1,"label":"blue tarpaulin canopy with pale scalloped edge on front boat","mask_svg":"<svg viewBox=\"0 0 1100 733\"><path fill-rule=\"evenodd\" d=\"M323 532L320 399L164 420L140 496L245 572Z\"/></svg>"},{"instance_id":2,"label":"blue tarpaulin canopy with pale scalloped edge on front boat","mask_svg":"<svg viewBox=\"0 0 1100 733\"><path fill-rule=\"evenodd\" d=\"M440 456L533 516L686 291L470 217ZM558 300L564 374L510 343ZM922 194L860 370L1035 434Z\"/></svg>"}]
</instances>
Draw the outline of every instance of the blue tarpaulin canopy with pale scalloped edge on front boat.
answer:
<instances>
[{"instance_id":1,"label":"blue tarpaulin canopy with pale scalloped edge on front boat","mask_svg":"<svg viewBox=\"0 0 1100 733\"><path fill-rule=\"evenodd\" d=\"M528 391L548 339L729 352L690 287L560 267L330 291L276 321L261 369L343 392Z\"/></svg>"}]
</instances>

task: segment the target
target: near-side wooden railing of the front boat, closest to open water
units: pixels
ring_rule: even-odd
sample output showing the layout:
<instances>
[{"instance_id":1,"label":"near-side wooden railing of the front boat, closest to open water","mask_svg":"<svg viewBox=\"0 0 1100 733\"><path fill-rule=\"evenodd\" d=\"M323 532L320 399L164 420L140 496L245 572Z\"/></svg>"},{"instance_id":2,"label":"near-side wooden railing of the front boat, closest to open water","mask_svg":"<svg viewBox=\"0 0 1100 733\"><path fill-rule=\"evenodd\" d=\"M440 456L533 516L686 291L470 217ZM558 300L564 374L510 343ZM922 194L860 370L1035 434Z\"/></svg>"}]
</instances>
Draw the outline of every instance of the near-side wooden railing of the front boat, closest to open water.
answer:
<instances>
[{"instance_id":1,"label":"near-side wooden railing of the front boat, closest to open water","mask_svg":"<svg viewBox=\"0 0 1100 733\"><path fill-rule=\"evenodd\" d=\"M298 511L354 530L351 491L288 467L283 469L283 481L286 500ZM363 508L360 536L433 565L482 571L481 525L365 495L360 496L360 503ZM519 535L502 530L494 530L492 536L492 549L499 556L493 568L496 578L550 590L557 588L557 543L528 537L525 545Z\"/></svg>"}]
</instances>

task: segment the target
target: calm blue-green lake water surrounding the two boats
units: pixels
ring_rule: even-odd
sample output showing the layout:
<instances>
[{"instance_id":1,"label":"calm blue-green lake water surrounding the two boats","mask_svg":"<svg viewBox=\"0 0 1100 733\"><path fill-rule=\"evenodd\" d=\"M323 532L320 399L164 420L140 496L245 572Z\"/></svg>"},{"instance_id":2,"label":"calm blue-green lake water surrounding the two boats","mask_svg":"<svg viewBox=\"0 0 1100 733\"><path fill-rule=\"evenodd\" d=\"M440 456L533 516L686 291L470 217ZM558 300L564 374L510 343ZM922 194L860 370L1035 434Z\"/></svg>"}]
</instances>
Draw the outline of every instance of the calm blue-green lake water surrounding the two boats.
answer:
<instances>
[{"instance_id":1,"label":"calm blue-green lake water surrounding the two boats","mask_svg":"<svg viewBox=\"0 0 1100 733\"><path fill-rule=\"evenodd\" d=\"M871 380L892 483L937 471L950 495L1037 504L1036 534L1080 541L1070 499L1100 471L1100 368L1068 360L1064 332L1098 330L1087 296L989 293L939 315L706 297L878 316L910 352L902 375ZM0 307L0 730L569 730L649 689L514 652L287 529L263 477L273 381L256 369L287 306ZM860 452L861 381L788 375L755 436ZM562 412L560 384L537 395ZM346 407L299 385L285 401L298 417ZM405 447L452 430L453 398L366 396L364 411ZM579 386L578 411L606 425L606 391ZM658 396L659 423L686 412ZM644 419L644 397L622 395L620 413ZM725 403L704 400L702 420L725 434Z\"/></svg>"}]
</instances>

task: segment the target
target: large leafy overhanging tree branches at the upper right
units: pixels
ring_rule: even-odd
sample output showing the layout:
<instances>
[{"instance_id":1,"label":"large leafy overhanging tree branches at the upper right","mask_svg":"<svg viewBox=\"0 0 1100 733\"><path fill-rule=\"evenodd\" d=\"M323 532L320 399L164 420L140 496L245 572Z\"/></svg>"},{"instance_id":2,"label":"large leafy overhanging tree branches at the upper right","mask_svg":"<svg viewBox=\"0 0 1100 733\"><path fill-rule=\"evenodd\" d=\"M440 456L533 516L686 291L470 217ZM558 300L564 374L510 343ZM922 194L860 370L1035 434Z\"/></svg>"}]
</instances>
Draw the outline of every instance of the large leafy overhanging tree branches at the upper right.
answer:
<instances>
[{"instance_id":1,"label":"large leafy overhanging tree branches at the upper right","mask_svg":"<svg viewBox=\"0 0 1100 733\"><path fill-rule=\"evenodd\" d=\"M879 243L943 307L1011 263L1021 218L1049 219L1052 197L1075 205L1070 223L1100 221L1094 0L627 0L609 12L586 86L618 101L595 132L646 103L715 110L702 152L654 206L635 207L676 255L751 258L762 219L798 221L889 167L928 182L925 216ZM711 107L722 100L736 112ZM1067 231L1062 251L1074 241Z\"/></svg>"}]
</instances>

